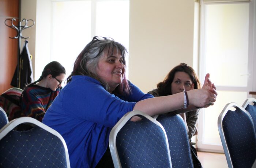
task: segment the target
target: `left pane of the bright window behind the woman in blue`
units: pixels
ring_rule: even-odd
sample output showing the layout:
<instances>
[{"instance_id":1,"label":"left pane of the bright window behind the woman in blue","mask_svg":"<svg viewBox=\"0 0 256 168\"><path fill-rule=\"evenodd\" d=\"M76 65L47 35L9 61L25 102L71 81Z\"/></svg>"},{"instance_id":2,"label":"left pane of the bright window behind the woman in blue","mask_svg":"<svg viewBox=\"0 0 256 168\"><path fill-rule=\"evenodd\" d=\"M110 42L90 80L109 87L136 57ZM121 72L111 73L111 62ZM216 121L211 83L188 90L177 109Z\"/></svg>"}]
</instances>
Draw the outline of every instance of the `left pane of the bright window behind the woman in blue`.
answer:
<instances>
[{"instance_id":1,"label":"left pane of the bright window behind the woman in blue","mask_svg":"<svg viewBox=\"0 0 256 168\"><path fill-rule=\"evenodd\" d=\"M91 39L91 1L57 1L52 8L51 61L65 67L67 78L76 57Z\"/></svg>"}]
</instances>

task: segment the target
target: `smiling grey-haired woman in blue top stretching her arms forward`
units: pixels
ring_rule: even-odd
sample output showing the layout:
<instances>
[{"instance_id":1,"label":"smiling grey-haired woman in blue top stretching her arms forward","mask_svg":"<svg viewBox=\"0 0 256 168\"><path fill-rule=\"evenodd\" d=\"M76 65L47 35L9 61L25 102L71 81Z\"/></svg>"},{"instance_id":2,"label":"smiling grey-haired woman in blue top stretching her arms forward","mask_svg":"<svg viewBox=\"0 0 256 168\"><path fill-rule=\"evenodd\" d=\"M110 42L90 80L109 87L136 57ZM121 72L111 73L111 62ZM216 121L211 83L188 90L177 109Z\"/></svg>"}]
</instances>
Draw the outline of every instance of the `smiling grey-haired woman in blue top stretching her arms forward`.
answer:
<instances>
[{"instance_id":1,"label":"smiling grey-haired woman in blue top stretching her arms forward","mask_svg":"<svg viewBox=\"0 0 256 168\"><path fill-rule=\"evenodd\" d=\"M63 136L72 168L113 167L109 134L125 113L140 110L153 116L184 108L183 93L153 98L129 82L126 54L126 48L112 38L95 36L76 58L67 85L45 113L43 123ZM204 107L215 102L217 92L207 80L203 89L187 92L189 103Z\"/></svg>"}]
</instances>

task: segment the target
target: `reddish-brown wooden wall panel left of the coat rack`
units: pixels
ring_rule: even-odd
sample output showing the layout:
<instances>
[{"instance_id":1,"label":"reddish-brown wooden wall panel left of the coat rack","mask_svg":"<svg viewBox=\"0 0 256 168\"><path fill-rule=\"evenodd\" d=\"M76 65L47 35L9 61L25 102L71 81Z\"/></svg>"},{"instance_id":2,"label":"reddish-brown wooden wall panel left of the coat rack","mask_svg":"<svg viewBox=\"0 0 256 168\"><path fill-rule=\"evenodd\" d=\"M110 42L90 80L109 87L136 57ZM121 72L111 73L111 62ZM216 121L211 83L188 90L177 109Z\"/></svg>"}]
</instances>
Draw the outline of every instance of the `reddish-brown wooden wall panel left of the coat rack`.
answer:
<instances>
[{"instance_id":1,"label":"reddish-brown wooden wall panel left of the coat rack","mask_svg":"<svg viewBox=\"0 0 256 168\"><path fill-rule=\"evenodd\" d=\"M5 26L5 19L15 18L19 22L19 0L0 0L0 94L10 89L17 65L18 39L15 30ZM18 23L17 22L17 23Z\"/></svg>"}]
</instances>

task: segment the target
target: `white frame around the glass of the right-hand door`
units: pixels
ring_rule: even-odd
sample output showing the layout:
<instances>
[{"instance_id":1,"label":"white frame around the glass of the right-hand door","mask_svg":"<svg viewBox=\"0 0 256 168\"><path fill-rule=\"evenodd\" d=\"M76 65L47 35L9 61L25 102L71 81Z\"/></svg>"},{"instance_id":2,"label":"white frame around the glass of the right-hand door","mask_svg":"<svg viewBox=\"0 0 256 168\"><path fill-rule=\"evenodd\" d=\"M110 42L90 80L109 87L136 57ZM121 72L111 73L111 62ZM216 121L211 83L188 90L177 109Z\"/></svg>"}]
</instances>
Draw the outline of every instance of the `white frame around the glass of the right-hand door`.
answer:
<instances>
[{"instance_id":1,"label":"white frame around the glass of the right-hand door","mask_svg":"<svg viewBox=\"0 0 256 168\"><path fill-rule=\"evenodd\" d=\"M200 81L204 81L204 75L206 72L206 60L205 60L205 48L204 48L204 39L205 39L205 8L206 5L211 4L230 4L230 3L249 3L249 43L248 43L248 69L250 72L250 76L248 78L248 86L247 87L230 87L230 86L217 86L217 91L246 91L247 97L251 97L249 95L249 91L256 89L256 4L255 0L200 0L200 30L199 30L199 77ZM224 107L223 107L224 108ZM221 112L218 112L221 113ZM197 148L199 151L208 151L208 152L221 152L223 153L222 145L217 144L207 144L204 142L204 109L201 109L199 113L199 122L198 122L198 130L199 134L197 136ZM217 121L216 121L217 122Z\"/></svg>"}]
</instances>

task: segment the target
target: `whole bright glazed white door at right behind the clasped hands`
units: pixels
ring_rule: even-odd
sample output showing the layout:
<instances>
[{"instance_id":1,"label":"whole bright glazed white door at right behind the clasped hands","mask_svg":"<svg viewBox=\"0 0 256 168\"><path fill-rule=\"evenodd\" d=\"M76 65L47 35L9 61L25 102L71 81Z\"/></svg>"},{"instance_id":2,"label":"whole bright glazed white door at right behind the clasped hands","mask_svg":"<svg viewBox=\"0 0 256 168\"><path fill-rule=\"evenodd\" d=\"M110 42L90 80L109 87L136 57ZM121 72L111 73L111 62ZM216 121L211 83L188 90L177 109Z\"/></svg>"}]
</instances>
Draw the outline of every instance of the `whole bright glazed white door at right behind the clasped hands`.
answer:
<instances>
[{"instance_id":1,"label":"whole bright glazed white door at right behind the clasped hands","mask_svg":"<svg viewBox=\"0 0 256 168\"><path fill-rule=\"evenodd\" d=\"M218 97L214 106L201 110L197 147L220 152L223 148L217 125L219 114L227 103L242 105L252 90L253 55L249 51L253 4L232 0L207 2L201 7L200 78L203 81L204 75L210 73Z\"/></svg>"}]
</instances>

